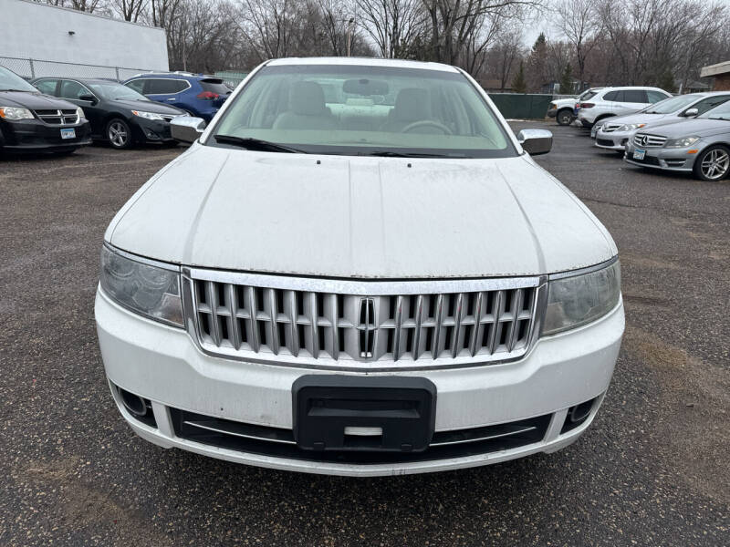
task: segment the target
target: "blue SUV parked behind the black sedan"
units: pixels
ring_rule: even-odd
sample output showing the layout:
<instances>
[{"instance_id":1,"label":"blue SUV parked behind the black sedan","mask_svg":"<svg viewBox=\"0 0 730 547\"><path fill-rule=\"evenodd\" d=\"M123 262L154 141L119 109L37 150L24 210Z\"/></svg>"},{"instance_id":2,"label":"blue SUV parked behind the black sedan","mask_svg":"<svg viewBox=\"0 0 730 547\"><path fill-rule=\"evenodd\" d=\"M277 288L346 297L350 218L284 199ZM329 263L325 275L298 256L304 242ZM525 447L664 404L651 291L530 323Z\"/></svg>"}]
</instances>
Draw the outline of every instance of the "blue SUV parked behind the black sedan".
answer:
<instances>
[{"instance_id":1,"label":"blue SUV parked behind the black sedan","mask_svg":"<svg viewBox=\"0 0 730 547\"><path fill-rule=\"evenodd\" d=\"M231 94L219 77L202 74L140 74L124 85L151 100L183 108L191 116L210 121Z\"/></svg>"}]
</instances>

